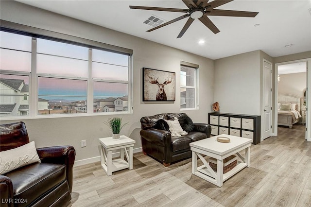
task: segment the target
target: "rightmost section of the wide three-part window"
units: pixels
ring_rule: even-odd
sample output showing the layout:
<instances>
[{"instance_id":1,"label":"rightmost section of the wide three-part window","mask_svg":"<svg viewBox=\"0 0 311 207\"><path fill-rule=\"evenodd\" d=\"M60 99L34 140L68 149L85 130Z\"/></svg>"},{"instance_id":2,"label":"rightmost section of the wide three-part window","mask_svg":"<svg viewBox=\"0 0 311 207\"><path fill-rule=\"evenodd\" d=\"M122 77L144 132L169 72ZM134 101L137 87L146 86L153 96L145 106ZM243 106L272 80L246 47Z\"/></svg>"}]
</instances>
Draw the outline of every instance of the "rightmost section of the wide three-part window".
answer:
<instances>
[{"instance_id":1,"label":"rightmost section of the wide three-part window","mask_svg":"<svg viewBox=\"0 0 311 207\"><path fill-rule=\"evenodd\" d=\"M128 111L128 55L95 49L92 55L93 101L98 103L94 105L93 111ZM117 99L126 103L121 105ZM103 111L98 110L102 107Z\"/></svg>"}]
</instances>

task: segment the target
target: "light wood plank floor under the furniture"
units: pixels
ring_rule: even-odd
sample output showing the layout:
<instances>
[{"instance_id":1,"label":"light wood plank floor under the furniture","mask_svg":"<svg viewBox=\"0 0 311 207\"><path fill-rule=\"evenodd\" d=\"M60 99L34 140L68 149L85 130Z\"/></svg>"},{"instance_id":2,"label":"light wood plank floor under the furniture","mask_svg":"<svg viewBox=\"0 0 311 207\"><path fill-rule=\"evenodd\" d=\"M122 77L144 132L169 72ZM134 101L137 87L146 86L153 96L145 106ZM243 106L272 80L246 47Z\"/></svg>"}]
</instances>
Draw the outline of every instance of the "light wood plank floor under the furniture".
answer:
<instances>
[{"instance_id":1,"label":"light wood plank floor under the furniture","mask_svg":"<svg viewBox=\"0 0 311 207\"><path fill-rule=\"evenodd\" d=\"M164 167L142 153L107 176L100 162L74 167L72 207L311 207L311 142L305 126L251 146L251 165L219 188L191 174L191 158Z\"/></svg>"}]
</instances>

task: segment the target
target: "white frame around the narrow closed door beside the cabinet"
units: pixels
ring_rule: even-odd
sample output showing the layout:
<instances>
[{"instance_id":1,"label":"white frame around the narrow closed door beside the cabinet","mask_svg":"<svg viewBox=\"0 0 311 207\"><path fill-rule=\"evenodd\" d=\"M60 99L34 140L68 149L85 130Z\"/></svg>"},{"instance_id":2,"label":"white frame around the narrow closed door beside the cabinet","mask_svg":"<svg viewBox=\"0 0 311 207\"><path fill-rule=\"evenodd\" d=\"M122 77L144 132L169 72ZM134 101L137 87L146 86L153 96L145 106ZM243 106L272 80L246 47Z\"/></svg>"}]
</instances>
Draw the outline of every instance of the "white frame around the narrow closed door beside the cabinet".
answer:
<instances>
[{"instance_id":1,"label":"white frame around the narrow closed door beside the cabinet","mask_svg":"<svg viewBox=\"0 0 311 207\"><path fill-rule=\"evenodd\" d=\"M270 71L270 86L271 86L271 93L270 93L270 105L271 105L271 107L272 107L272 109L271 109L271 115L270 115L270 124L271 124L271 126L273 125L273 122L272 122L272 118L273 118L273 100L272 100L272 98L273 98L273 64L270 62L270 61L268 61L268 60L266 60L266 59L262 59L262 83L264 82L263 81L263 74L264 74L264 63L268 63L268 64L270 64L271 65L271 71ZM263 112L263 110L264 110L264 105L265 105L265 103L264 103L264 84L262 84L262 110L261 110L261 117L262 117L262 121L261 121L261 125L262 125L262 127L261 127L261 141L263 140L263 139L265 139L265 138L263 138L263 135L264 135L264 112ZM271 136L273 136L273 129L271 128L271 131L270 131L270 137Z\"/></svg>"}]
</instances>

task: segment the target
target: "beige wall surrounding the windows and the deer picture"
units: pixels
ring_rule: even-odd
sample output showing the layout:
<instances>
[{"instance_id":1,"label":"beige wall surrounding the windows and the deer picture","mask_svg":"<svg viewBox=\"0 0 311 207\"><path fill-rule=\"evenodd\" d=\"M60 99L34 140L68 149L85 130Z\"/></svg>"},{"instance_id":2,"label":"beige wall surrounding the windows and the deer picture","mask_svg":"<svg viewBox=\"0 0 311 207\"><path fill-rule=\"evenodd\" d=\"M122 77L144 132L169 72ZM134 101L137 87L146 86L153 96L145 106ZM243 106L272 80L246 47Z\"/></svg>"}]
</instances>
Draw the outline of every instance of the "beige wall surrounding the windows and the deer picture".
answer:
<instances>
[{"instance_id":1,"label":"beige wall surrounding the windows and the deer picture","mask_svg":"<svg viewBox=\"0 0 311 207\"><path fill-rule=\"evenodd\" d=\"M139 120L141 117L158 113L180 112L180 61L200 66L199 110L182 112L187 113L194 122L207 122L207 113L211 111L210 105L214 100L213 60L80 20L57 15L17 1L0 1L0 3L0 17L3 20L134 50L134 113L121 116L124 121L130 122L121 133L136 140L134 148L139 149L141 147L139 136ZM142 102L143 67L176 73L175 102L161 104ZM24 121L29 137L31 140L35 140L36 147L72 145L76 149L76 160L83 160L98 157L100 155L98 138L111 136L111 132L103 123L107 118L108 116L103 115L76 118L18 119L1 121L1 124ZM80 142L82 139L86 139L86 148L81 148Z\"/></svg>"}]
</instances>

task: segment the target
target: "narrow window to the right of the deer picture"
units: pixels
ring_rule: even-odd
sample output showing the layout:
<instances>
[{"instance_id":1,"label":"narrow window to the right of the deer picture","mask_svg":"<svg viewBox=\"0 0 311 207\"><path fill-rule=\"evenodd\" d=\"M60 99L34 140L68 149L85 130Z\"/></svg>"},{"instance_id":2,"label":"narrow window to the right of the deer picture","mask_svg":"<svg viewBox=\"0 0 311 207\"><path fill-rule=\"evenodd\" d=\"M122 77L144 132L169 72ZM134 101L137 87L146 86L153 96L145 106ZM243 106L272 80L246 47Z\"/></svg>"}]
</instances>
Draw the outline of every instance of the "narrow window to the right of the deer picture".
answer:
<instances>
[{"instance_id":1,"label":"narrow window to the right of the deer picture","mask_svg":"<svg viewBox=\"0 0 311 207\"><path fill-rule=\"evenodd\" d=\"M180 108L196 108L196 68L180 66Z\"/></svg>"}]
</instances>

